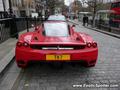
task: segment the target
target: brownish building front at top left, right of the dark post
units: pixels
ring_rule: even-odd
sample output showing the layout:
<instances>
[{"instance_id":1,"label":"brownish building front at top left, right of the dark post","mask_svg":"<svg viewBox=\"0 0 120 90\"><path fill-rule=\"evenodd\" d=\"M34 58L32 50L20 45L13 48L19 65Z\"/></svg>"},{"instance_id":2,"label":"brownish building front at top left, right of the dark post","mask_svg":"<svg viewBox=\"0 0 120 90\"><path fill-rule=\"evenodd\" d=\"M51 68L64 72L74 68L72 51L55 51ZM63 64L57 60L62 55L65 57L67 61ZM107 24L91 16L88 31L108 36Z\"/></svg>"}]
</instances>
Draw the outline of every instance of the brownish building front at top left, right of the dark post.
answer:
<instances>
[{"instance_id":1,"label":"brownish building front at top left, right of the dark post","mask_svg":"<svg viewBox=\"0 0 120 90\"><path fill-rule=\"evenodd\" d=\"M12 9L16 16L30 16L35 12L35 0L12 0Z\"/></svg>"}]
</instances>

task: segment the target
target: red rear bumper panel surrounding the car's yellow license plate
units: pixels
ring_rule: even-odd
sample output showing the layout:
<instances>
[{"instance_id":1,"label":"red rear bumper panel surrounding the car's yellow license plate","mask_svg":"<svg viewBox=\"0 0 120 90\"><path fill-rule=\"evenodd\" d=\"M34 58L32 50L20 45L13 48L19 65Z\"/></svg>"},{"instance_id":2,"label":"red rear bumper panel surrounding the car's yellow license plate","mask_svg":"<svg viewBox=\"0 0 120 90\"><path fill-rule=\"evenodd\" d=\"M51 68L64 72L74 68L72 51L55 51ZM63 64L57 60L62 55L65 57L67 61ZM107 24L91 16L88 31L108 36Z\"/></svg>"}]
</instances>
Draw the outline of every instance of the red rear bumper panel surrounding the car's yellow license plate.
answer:
<instances>
[{"instance_id":1,"label":"red rear bumper panel surrounding the car's yellow license plate","mask_svg":"<svg viewBox=\"0 0 120 90\"><path fill-rule=\"evenodd\" d=\"M70 55L69 61L93 61L97 60L98 48L85 49L85 50L28 50L22 48L16 48L16 61L24 61L26 63L30 61L47 61L46 55ZM52 61L52 60L51 60ZM54 60L54 62L63 60Z\"/></svg>"}]
</instances>

